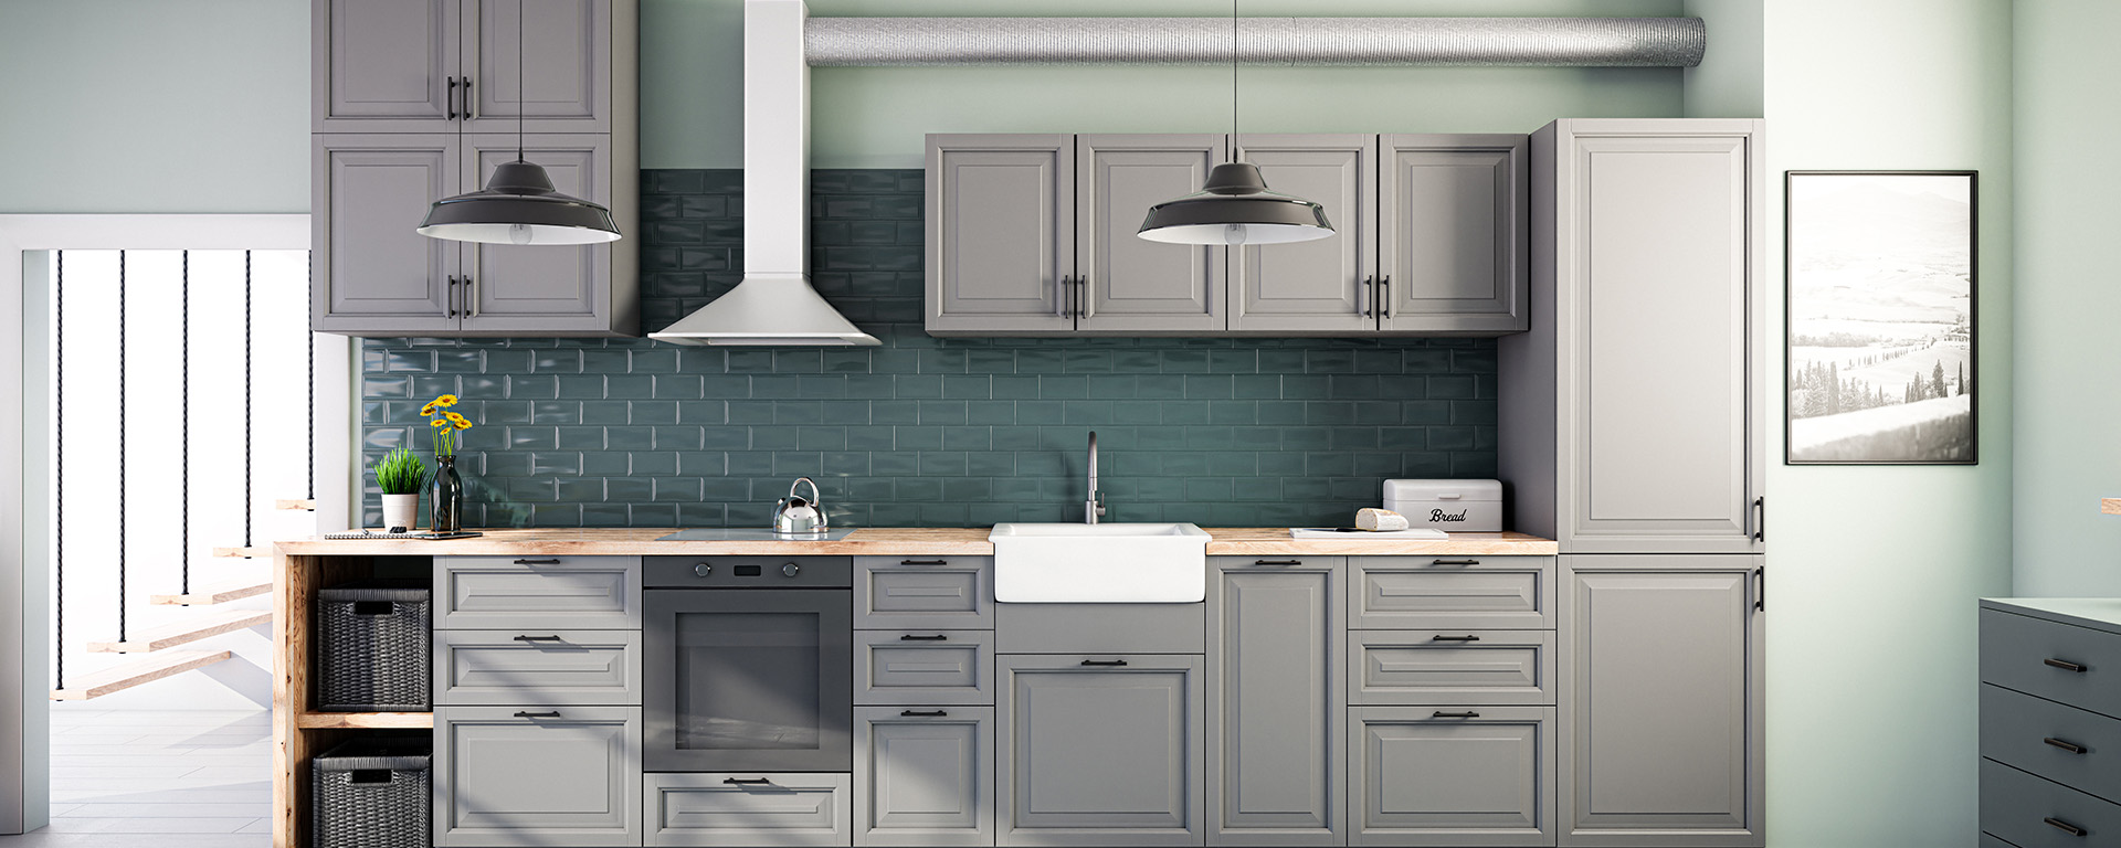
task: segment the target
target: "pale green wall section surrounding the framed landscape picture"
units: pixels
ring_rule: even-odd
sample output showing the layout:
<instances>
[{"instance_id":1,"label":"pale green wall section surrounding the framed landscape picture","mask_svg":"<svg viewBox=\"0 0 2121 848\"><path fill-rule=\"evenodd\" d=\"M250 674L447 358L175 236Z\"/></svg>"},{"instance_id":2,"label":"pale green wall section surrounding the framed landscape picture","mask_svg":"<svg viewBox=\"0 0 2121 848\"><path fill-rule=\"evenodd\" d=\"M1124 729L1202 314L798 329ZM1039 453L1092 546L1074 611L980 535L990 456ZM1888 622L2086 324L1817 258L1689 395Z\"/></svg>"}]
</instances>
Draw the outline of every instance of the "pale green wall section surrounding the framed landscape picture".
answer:
<instances>
[{"instance_id":1,"label":"pale green wall section surrounding the framed landscape picture","mask_svg":"<svg viewBox=\"0 0 2121 848\"><path fill-rule=\"evenodd\" d=\"M1981 464L1784 466L1773 430L1769 842L1973 846L1975 598L2011 591L2011 2L1771 0L1765 23L1775 293L1784 170L1981 172ZM1769 326L1780 388L1780 299Z\"/></svg>"}]
</instances>

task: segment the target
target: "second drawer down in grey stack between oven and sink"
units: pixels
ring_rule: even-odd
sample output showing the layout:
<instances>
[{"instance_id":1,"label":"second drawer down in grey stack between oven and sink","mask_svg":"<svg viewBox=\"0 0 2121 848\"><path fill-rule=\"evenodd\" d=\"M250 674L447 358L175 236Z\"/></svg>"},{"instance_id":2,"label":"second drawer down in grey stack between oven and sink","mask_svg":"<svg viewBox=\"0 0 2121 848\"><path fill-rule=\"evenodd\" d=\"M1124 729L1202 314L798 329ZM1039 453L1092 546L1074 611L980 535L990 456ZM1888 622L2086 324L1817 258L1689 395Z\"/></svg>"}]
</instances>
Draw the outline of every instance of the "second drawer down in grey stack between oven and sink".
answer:
<instances>
[{"instance_id":1,"label":"second drawer down in grey stack between oven and sink","mask_svg":"<svg viewBox=\"0 0 2121 848\"><path fill-rule=\"evenodd\" d=\"M855 704L993 704L995 634L855 632Z\"/></svg>"}]
</instances>

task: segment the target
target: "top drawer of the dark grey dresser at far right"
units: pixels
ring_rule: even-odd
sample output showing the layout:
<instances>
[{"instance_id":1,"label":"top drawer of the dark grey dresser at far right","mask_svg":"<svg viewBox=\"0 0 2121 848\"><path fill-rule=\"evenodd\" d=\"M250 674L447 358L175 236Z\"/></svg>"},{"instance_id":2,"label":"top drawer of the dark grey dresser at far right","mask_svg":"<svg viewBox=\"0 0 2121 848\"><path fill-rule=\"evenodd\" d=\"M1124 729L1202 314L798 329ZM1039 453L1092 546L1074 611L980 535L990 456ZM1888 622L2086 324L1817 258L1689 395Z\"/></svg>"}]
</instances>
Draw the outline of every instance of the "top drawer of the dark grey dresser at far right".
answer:
<instances>
[{"instance_id":1,"label":"top drawer of the dark grey dresser at far right","mask_svg":"<svg viewBox=\"0 0 2121 848\"><path fill-rule=\"evenodd\" d=\"M1985 608L1981 683L2121 717L2121 636Z\"/></svg>"}]
</instances>

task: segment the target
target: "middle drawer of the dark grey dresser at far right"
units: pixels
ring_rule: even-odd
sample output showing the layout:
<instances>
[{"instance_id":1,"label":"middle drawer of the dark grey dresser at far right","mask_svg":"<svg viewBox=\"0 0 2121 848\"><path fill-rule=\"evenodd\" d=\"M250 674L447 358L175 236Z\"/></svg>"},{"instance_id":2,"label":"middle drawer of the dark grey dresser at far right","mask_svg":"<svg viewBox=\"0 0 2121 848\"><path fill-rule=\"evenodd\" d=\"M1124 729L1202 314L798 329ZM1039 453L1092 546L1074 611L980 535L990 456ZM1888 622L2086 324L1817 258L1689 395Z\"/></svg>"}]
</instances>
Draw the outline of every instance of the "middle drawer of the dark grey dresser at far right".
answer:
<instances>
[{"instance_id":1,"label":"middle drawer of the dark grey dresser at far right","mask_svg":"<svg viewBox=\"0 0 2121 848\"><path fill-rule=\"evenodd\" d=\"M2121 719L1983 683L1981 757L2121 801Z\"/></svg>"}]
</instances>

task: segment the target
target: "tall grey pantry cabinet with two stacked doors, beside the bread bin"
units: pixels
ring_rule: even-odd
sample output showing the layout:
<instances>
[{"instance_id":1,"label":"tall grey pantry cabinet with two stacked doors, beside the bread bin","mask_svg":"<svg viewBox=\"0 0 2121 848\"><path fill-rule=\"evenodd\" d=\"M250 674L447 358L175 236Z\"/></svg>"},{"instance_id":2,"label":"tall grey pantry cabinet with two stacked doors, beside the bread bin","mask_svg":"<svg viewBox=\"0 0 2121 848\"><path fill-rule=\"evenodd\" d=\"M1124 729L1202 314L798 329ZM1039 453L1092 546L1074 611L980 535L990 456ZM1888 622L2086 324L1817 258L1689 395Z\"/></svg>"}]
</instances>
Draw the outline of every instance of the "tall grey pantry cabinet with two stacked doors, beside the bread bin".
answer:
<instances>
[{"instance_id":1,"label":"tall grey pantry cabinet with two stacked doors, beside the bread bin","mask_svg":"<svg viewBox=\"0 0 2121 848\"><path fill-rule=\"evenodd\" d=\"M1765 844L1763 123L1531 136L1510 526L1561 545L1561 846Z\"/></svg>"}]
</instances>

